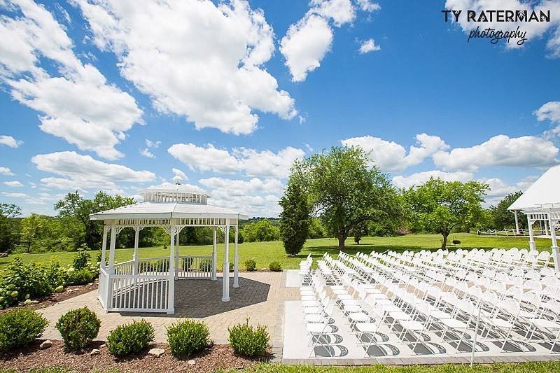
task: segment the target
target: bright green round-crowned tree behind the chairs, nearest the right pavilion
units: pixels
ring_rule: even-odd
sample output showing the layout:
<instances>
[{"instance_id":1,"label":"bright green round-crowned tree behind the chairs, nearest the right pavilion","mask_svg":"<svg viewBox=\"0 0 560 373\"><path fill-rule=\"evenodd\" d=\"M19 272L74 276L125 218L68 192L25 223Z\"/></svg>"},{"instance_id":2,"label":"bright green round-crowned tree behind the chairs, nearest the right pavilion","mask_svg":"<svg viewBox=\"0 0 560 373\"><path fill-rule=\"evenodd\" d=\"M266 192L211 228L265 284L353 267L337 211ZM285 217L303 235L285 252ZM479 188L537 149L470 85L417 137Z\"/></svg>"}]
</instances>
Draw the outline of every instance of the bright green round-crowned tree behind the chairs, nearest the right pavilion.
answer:
<instances>
[{"instance_id":1,"label":"bright green round-crowned tree behind the chairs, nearest the right pavilion","mask_svg":"<svg viewBox=\"0 0 560 373\"><path fill-rule=\"evenodd\" d=\"M405 199L412 224L442 234L442 248L456 227L472 227L482 214L481 203L489 186L477 181L443 181L430 178L417 188L409 188Z\"/></svg>"}]
</instances>

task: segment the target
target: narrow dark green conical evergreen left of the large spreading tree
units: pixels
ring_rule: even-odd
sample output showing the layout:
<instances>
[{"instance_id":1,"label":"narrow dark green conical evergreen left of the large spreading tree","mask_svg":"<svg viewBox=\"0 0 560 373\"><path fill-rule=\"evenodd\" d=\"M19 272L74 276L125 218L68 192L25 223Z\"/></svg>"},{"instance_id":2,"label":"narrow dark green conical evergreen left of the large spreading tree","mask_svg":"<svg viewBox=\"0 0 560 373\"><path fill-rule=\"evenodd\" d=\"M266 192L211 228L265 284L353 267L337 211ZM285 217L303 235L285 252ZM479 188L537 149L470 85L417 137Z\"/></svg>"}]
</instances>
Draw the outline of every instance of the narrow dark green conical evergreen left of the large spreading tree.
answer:
<instances>
[{"instance_id":1,"label":"narrow dark green conical evergreen left of the large spreading tree","mask_svg":"<svg viewBox=\"0 0 560 373\"><path fill-rule=\"evenodd\" d=\"M288 256L295 256L302 251L309 234L309 214L311 209L301 185L288 183L284 195L279 201L280 239Z\"/></svg>"}]
</instances>

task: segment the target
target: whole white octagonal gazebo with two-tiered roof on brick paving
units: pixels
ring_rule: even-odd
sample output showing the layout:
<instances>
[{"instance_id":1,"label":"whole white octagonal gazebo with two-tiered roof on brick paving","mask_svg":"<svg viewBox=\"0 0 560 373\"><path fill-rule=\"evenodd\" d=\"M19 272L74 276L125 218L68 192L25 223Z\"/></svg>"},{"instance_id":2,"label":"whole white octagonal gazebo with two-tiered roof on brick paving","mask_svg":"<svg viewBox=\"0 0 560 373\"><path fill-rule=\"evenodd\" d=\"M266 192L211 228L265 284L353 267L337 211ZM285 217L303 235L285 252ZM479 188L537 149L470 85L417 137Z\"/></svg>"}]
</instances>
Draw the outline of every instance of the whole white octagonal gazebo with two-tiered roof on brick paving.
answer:
<instances>
[{"instance_id":1,"label":"whole white octagonal gazebo with two-tiered roof on brick paving","mask_svg":"<svg viewBox=\"0 0 560 373\"><path fill-rule=\"evenodd\" d=\"M233 287L239 287L237 237L239 220L248 216L207 204L210 197L199 188L162 184L141 190L144 202L92 213L91 220L103 220L102 260L99 266L99 295L105 311L167 312L174 314L175 281L179 279L217 280L216 231L224 235L222 301L230 300L230 227L235 229ZM115 263L116 236L124 227L134 228L132 260ZM138 257L139 234L144 227L162 227L169 234L169 255L162 258ZM184 227L211 227L214 244L211 255L179 255L179 234ZM109 265L106 265L107 234Z\"/></svg>"}]
</instances>

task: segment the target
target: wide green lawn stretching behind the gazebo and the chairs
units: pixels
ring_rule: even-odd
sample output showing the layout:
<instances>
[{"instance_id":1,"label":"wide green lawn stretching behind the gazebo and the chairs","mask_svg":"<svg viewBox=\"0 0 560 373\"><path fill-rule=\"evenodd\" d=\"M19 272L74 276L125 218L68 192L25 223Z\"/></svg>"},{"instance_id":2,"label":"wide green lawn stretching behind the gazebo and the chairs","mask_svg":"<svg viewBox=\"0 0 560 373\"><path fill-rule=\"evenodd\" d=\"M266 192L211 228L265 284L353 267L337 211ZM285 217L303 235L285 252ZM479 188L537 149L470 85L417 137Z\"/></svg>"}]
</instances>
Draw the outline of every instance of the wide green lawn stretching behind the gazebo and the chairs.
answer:
<instances>
[{"instance_id":1,"label":"wide green lawn stretching behind the gazebo and the chairs","mask_svg":"<svg viewBox=\"0 0 560 373\"><path fill-rule=\"evenodd\" d=\"M457 238L461 240L461 244L457 248L528 248L527 237L480 237L475 234L458 233L452 234L451 239ZM356 245L353 239L346 241L346 252L356 253L357 251L383 252L387 249L395 251L414 250L418 251L423 248L437 249L441 246L442 237L439 234L408 234L399 237L365 237L362 244ZM550 250L549 239L536 239L538 250ZM449 246L453 248L454 246ZM116 261L123 262L132 259L132 248L121 248L116 251ZM212 252L212 246L181 246L181 255L209 255ZM243 269L245 260L254 259L257 262L257 268L267 268L269 263L276 260L280 262L282 268L297 268L298 263L307 254L311 253L314 258L321 257L323 253L328 252L331 255L337 255L336 239L309 239L304 246L303 251L296 258L288 258L283 250L281 241L269 242L247 242L239 244L239 268ZM20 256L25 262L48 262L51 258L56 258L63 265L71 263L76 253L57 252L57 253L38 253L38 254L17 254L9 255L6 258L0 258L0 268L5 267L8 262L16 256ZM97 251L91 251L92 258L95 258ZM169 255L169 249L158 248L140 248L139 255L141 258L154 258ZM233 244L230 245L230 261L233 260ZM218 265L223 262L223 244L218 245Z\"/></svg>"}]
</instances>

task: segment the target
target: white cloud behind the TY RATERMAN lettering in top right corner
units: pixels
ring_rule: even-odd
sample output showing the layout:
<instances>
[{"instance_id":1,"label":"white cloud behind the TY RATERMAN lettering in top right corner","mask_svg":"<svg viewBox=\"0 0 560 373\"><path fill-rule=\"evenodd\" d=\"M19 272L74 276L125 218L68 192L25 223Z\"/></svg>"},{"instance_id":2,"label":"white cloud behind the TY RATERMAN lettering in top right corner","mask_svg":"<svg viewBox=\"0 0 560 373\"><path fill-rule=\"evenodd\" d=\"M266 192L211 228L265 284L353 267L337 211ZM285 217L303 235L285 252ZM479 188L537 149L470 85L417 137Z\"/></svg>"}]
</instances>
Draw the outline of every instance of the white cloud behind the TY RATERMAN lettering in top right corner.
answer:
<instances>
[{"instance_id":1,"label":"white cloud behind the TY RATERMAN lettering in top right corner","mask_svg":"<svg viewBox=\"0 0 560 373\"><path fill-rule=\"evenodd\" d=\"M551 55L558 56L560 54L560 42L557 39L560 29L557 27L560 23L560 2L556 0L542 0L542 1L519 1L519 0L500 0L498 3L496 1L488 0L447 0L445 2L445 8L448 10L463 10L463 13L459 16L458 24L461 29L468 33L472 29L480 27L481 29L498 29L498 30L514 30L517 27L521 31L526 31L526 38L528 41L540 38L545 32L556 27L556 34L552 36L548 43L547 48ZM508 10L527 10L530 14L532 10L550 10L550 22L496 22L495 17L493 22L473 22L467 21L467 10L475 10L477 15L481 10L495 10L495 9L508 9ZM452 16L451 16L452 17ZM454 17L453 17L454 18ZM525 42L527 43L527 42ZM512 39L510 43L507 43L506 48L521 48L522 45L517 45L517 40ZM523 44L524 45L524 44Z\"/></svg>"}]
</instances>

